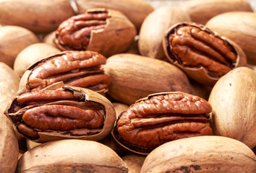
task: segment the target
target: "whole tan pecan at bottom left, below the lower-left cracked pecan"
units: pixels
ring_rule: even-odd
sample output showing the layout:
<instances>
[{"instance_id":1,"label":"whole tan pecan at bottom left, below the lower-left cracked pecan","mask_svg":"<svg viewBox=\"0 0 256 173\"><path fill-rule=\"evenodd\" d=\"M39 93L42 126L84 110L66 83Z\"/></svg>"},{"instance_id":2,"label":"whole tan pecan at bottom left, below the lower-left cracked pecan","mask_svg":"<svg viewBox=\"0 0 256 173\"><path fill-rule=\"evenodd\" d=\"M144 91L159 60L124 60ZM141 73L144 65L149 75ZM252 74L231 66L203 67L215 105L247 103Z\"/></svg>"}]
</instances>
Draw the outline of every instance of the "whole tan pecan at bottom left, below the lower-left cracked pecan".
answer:
<instances>
[{"instance_id":1,"label":"whole tan pecan at bottom left, below the lower-left cracked pecan","mask_svg":"<svg viewBox=\"0 0 256 173\"><path fill-rule=\"evenodd\" d=\"M68 139L43 143L19 159L20 172L128 172L111 148L95 141Z\"/></svg>"}]
</instances>

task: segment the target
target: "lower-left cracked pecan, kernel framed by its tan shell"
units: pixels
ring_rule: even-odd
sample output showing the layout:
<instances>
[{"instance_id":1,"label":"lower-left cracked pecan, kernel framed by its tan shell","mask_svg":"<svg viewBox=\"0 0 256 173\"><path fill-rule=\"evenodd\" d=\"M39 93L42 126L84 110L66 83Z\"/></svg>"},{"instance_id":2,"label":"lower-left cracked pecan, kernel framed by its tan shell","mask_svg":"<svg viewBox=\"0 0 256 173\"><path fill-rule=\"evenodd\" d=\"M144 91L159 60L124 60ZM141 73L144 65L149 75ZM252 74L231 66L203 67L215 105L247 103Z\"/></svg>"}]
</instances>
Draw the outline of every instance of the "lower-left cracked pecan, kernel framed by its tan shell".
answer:
<instances>
[{"instance_id":1,"label":"lower-left cracked pecan, kernel framed by its tan shell","mask_svg":"<svg viewBox=\"0 0 256 173\"><path fill-rule=\"evenodd\" d=\"M5 114L18 133L35 142L63 138L98 141L110 133L116 120L114 107L106 97L69 86L21 94Z\"/></svg>"}]
</instances>

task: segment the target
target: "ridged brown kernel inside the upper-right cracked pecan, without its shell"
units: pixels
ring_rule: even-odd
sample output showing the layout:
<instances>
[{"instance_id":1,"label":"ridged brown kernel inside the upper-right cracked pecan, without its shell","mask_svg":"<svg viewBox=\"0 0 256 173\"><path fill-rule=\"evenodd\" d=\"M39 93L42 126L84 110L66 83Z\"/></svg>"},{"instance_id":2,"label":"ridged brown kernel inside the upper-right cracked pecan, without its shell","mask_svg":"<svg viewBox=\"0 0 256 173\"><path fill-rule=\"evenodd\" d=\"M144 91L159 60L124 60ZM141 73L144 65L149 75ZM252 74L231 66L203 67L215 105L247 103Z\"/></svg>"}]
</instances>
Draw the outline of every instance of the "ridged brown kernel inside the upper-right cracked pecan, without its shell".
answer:
<instances>
[{"instance_id":1,"label":"ridged brown kernel inside the upper-right cracked pecan, without its shell","mask_svg":"<svg viewBox=\"0 0 256 173\"><path fill-rule=\"evenodd\" d=\"M182 66L202 66L216 78L234 68L237 54L232 45L202 25L177 25L169 33L168 42L170 58Z\"/></svg>"}]
</instances>

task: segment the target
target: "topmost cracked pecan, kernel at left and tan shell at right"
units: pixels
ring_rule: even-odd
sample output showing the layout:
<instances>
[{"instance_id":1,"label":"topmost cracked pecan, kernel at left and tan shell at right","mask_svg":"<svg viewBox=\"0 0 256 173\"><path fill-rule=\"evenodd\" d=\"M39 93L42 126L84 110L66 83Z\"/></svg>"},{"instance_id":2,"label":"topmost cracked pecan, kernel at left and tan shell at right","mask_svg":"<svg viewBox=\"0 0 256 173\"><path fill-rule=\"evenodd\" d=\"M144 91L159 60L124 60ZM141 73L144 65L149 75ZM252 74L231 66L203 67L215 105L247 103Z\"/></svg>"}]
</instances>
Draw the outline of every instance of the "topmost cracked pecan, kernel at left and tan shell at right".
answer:
<instances>
[{"instance_id":1,"label":"topmost cracked pecan, kernel at left and tan shell at right","mask_svg":"<svg viewBox=\"0 0 256 173\"><path fill-rule=\"evenodd\" d=\"M61 50L92 50L108 57L127 50L136 33L124 14L112 9L90 9L62 22L54 43Z\"/></svg>"}]
</instances>

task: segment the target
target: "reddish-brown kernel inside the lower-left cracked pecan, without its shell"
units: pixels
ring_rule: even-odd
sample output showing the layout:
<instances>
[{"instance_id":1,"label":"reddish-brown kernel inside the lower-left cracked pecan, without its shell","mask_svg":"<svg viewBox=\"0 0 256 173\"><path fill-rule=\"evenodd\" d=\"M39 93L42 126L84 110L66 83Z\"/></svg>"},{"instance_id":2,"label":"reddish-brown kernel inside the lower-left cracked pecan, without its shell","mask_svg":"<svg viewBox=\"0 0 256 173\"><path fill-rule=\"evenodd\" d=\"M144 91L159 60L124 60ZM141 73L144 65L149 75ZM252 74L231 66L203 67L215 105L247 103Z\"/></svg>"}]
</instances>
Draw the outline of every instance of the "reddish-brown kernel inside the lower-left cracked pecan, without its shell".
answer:
<instances>
[{"instance_id":1,"label":"reddish-brown kernel inside the lower-left cracked pecan, without its shell","mask_svg":"<svg viewBox=\"0 0 256 173\"><path fill-rule=\"evenodd\" d=\"M85 99L83 94L69 90L27 92L17 97L20 110L11 119L17 130L29 138L37 138L37 133L43 130L102 128L105 120L102 105L82 99Z\"/></svg>"}]
</instances>

